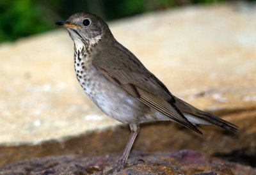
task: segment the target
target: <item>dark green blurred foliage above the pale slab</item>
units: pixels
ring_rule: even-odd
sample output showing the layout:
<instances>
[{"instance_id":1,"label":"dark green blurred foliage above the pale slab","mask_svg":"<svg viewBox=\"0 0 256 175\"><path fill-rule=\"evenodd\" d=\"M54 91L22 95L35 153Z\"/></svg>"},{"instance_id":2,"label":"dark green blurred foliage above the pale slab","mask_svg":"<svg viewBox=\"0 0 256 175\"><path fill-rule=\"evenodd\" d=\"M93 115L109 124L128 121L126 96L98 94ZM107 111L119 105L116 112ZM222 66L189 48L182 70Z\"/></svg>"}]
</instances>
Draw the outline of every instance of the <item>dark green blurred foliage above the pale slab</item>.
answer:
<instances>
[{"instance_id":1,"label":"dark green blurred foliage above the pale slab","mask_svg":"<svg viewBox=\"0 0 256 175\"><path fill-rule=\"evenodd\" d=\"M252 1L252 0L251 0ZM95 13L104 20L120 19L188 4L216 4L227 0L0 0L0 42L54 29L78 11Z\"/></svg>"}]
</instances>

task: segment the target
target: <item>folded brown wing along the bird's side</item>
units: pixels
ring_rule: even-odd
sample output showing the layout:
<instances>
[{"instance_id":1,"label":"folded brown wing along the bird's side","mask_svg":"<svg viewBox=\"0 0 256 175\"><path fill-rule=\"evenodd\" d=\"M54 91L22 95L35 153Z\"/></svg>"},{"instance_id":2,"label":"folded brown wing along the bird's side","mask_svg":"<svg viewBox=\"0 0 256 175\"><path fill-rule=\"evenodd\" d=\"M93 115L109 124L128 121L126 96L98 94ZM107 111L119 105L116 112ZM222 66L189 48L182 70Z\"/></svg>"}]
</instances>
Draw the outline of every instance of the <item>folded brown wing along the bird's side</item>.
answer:
<instances>
[{"instance_id":1,"label":"folded brown wing along the bird's side","mask_svg":"<svg viewBox=\"0 0 256 175\"><path fill-rule=\"evenodd\" d=\"M106 56L102 57L99 54L94 57L92 64L106 79L141 102L173 121L197 133L202 133L175 106L175 98L166 86L150 73L131 52L127 50L126 54L120 55L122 57L116 57L116 55L118 56L118 54L108 55L111 59L106 60Z\"/></svg>"}]
</instances>

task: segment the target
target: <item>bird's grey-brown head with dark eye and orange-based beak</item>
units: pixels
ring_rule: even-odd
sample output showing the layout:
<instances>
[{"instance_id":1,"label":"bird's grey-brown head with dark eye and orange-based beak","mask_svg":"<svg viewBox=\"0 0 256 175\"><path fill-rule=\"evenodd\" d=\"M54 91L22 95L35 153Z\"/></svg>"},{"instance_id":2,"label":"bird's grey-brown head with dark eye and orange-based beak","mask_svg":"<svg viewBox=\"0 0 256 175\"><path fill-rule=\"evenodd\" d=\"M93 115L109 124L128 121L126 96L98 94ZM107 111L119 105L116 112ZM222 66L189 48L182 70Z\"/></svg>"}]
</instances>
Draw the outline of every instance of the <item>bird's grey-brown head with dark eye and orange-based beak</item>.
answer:
<instances>
[{"instance_id":1,"label":"bird's grey-brown head with dark eye and orange-based beak","mask_svg":"<svg viewBox=\"0 0 256 175\"><path fill-rule=\"evenodd\" d=\"M65 22L58 21L56 24L68 30L76 47L95 45L104 35L111 33L104 20L90 13L76 13Z\"/></svg>"}]
</instances>

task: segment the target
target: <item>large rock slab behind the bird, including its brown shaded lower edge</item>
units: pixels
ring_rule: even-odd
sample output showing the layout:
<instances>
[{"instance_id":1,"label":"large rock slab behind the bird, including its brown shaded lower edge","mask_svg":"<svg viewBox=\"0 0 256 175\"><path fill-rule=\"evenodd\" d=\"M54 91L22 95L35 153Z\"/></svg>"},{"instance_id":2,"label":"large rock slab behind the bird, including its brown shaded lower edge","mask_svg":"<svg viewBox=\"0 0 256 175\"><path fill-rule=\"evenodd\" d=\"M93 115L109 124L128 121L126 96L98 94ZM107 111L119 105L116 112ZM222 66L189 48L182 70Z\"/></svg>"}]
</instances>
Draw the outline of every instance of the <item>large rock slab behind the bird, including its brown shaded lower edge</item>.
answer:
<instances>
[{"instance_id":1,"label":"large rock slab behind the bird, including its brown shaded lower edge","mask_svg":"<svg viewBox=\"0 0 256 175\"><path fill-rule=\"evenodd\" d=\"M194 149L221 157L241 153L237 161L255 160L255 9L191 6L110 23L116 39L174 95L240 131L232 136L204 126L202 137L175 123L150 123L141 127L134 149ZM0 165L49 155L122 152L129 129L84 95L66 31L3 43L0 55ZM255 161L250 165L256 167Z\"/></svg>"}]
</instances>

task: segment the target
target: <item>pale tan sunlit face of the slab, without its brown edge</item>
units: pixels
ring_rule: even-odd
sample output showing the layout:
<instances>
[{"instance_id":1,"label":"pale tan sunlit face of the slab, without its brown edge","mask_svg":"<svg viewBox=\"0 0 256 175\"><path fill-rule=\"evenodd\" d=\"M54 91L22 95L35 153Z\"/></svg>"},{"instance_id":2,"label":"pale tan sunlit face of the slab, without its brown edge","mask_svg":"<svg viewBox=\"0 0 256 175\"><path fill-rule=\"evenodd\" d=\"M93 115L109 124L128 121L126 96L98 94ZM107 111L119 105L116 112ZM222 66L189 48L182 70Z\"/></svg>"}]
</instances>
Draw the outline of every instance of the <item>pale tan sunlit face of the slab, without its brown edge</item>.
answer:
<instances>
[{"instance_id":1,"label":"pale tan sunlit face of the slab, without its brown edge","mask_svg":"<svg viewBox=\"0 0 256 175\"><path fill-rule=\"evenodd\" d=\"M222 114L256 109L255 9L189 7L109 24L116 39L174 95ZM3 43L0 56L2 145L35 144L118 124L79 87L66 31Z\"/></svg>"}]
</instances>

